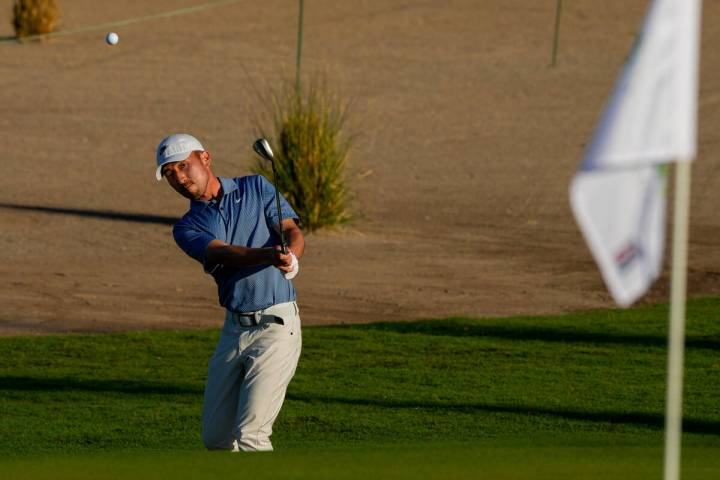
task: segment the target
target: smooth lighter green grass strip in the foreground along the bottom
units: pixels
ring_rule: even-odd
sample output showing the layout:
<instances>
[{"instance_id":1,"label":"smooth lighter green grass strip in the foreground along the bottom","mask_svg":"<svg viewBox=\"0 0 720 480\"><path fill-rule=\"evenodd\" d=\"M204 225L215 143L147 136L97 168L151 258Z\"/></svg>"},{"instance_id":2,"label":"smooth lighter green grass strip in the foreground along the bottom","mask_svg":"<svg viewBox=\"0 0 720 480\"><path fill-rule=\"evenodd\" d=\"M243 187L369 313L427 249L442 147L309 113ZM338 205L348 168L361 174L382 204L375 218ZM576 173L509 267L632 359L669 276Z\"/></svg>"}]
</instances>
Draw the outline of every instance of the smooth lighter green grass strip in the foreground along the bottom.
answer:
<instances>
[{"instance_id":1,"label":"smooth lighter green grass strip in the foreground along the bottom","mask_svg":"<svg viewBox=\"0 0 720 480\"><path fill-rule=\"evenodd\" d=\"M465 444L293 448L273 454L136 452L50 456L3 462L8 480L173 478L262 479L583 479L662 478L662 451L642 447L495 446ZM717 449L684 452L682 478L717 478Z\"/></svg>"}]
</instances>

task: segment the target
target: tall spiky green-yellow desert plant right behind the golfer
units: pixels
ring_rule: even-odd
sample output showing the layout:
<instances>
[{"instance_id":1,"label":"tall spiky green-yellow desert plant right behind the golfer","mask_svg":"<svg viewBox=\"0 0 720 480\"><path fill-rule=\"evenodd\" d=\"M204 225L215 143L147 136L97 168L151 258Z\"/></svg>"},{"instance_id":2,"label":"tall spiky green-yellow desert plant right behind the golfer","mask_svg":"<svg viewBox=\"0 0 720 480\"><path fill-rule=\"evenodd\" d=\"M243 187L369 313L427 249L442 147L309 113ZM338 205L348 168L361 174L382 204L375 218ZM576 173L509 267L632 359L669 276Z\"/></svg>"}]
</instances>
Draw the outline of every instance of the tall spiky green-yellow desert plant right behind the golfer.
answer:
<instances>
[{"instance_id":1,"label":"tall spiky green-yellow desert plant right behind the golfer","mask_svg":"<svg viewBox=\"0 0 720 480\"><path fill-rule=\"evenodd\" d=\"M351 137L343 135L349 103L329 90L325 77L300 88L289 79L270 89L271 131L256 119L255 127L270 140L275 153L277 186L307 231L351 219L345 166ZM256 117L259 118L259 117ZM252 170L272 181L269 162L257 160Z\"/></svg>"}]
</instances>

